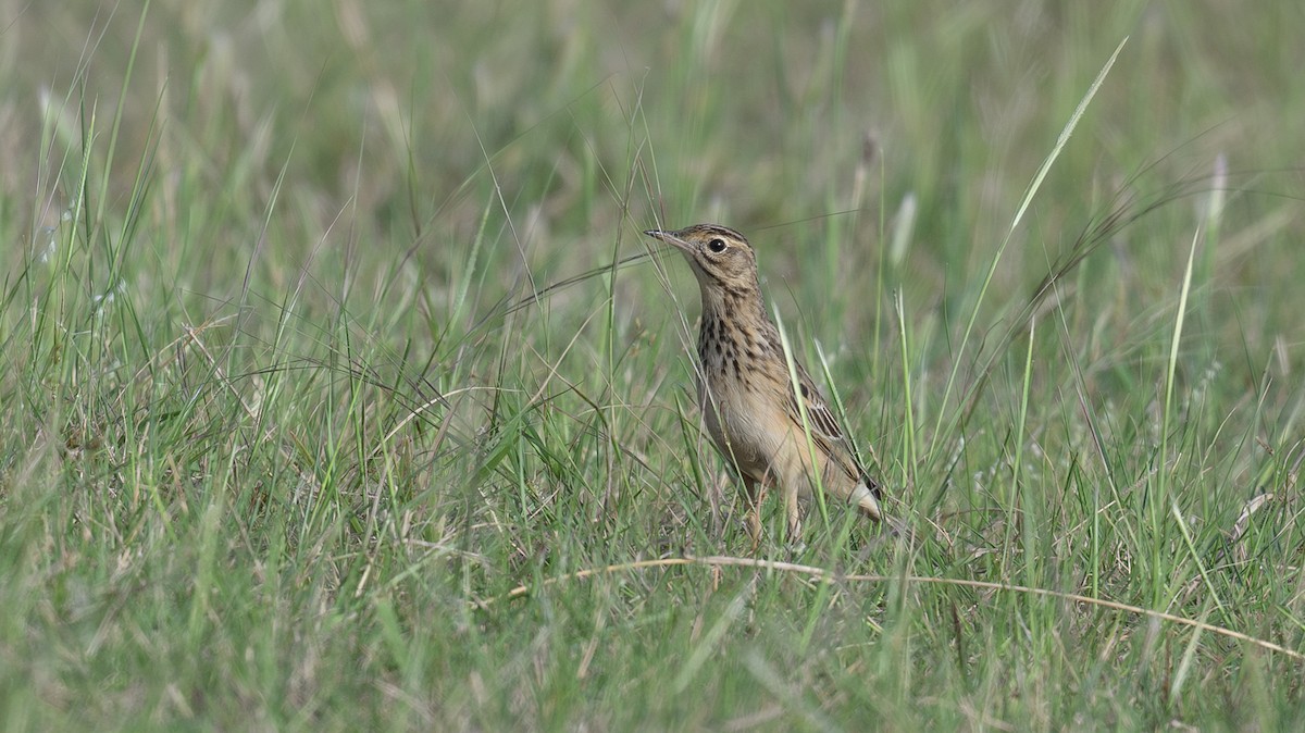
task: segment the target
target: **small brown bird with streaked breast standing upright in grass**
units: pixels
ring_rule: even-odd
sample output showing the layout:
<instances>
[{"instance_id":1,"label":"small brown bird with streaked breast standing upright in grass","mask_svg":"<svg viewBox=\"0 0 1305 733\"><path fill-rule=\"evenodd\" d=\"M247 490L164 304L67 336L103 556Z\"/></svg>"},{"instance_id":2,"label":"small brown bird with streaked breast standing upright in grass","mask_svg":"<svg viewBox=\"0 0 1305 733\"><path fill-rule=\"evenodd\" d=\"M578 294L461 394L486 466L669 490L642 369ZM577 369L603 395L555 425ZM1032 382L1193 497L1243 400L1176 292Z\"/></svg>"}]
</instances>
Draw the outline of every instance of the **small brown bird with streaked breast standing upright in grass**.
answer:
<instances>
[{"instance_id":1,"label":"small brown bird with streaked breast standing upright in grass","mask_svg":"<svg viewBox=\"0 0 1305 733\"><path fill-rule=\"evenodd\" d=\"M793 373L788 369L748 240L716 224L643 233L684 253L698 278L698 403L716 447L743 477L753 546L761 540L765 486L778 485L784 497L790 541L801 533L797 498L813 496L817 485L882 519L880 485L857 463L823 395L796 359Z\"/></svg>"}]
</instances>

